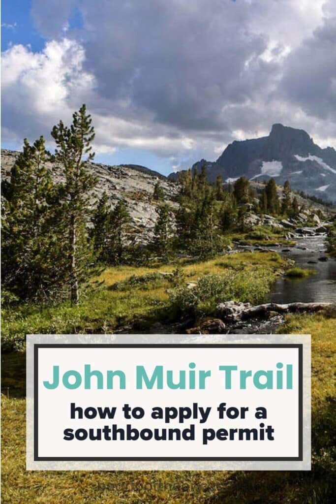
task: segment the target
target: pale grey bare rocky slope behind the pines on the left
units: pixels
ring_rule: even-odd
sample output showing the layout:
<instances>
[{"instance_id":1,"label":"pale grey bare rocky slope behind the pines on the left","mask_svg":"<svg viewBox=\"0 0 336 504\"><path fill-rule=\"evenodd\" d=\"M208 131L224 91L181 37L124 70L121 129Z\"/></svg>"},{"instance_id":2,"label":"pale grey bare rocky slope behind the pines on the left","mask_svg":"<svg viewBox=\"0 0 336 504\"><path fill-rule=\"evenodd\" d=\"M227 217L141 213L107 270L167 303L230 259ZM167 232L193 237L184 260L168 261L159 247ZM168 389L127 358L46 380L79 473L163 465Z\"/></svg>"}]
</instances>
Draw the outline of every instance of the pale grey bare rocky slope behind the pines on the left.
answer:
<instances>
[{"instance_id":1,"label":"pale grey bare rocky slope behind the pines on the left","mask_svg":"<svg viewBox=\"0 0 336 504\"><path fill-rule=\"evenodd\" d=\"M13 166L18 152L2 150L2 179ZM54 180L60 181L60 169L47 163ZM92 205L105 191L114 207L118 200L125 200L133 226L138 230L139 241L146 242L153 230L158 202L153 200L154 186L160 180L164 200L171 207L177 207L175 202L178 187L158 172L144 166L125 165L107 166L101 163L88 163L88 170L97 179L97 185L92 193Z\"/></svg>"}]
</instances>

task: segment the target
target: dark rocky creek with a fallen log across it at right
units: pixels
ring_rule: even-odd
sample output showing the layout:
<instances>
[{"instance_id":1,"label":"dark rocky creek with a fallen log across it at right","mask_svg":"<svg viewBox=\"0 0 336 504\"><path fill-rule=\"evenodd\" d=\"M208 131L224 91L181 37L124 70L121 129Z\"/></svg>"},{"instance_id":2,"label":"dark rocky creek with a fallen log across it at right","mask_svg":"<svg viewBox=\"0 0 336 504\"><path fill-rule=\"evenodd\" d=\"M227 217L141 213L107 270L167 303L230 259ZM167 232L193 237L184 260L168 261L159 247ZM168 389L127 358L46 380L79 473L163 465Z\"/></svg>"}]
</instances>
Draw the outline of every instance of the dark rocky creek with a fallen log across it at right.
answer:
<instances>
[{"instance_id":1,"label":"dark rocky creek with a fallen log across it at right","mask_svg":"<svg viewBox=\"0 0 336 504\"><path fill-rule=\"evenodd\" d=\"M288 313L314 312L336 304L336 261L326 256L325 234L311 229L309 235L295 235L296 245L273 247L283 258L295 262L300 268L314 270L304 279L280 277L268 296L267 304L254 306L230 302L218 306L218 329L233 334L271 334L283 324ZM243 246L240 249L255 250L260 247ZM268 247L265 250L270 250ZM215 327L214 320L208 322L208 331ZM195 328L197 329L197 328ZM204 321L203 330L207 330Z\"/></svg>"}]
</instances>

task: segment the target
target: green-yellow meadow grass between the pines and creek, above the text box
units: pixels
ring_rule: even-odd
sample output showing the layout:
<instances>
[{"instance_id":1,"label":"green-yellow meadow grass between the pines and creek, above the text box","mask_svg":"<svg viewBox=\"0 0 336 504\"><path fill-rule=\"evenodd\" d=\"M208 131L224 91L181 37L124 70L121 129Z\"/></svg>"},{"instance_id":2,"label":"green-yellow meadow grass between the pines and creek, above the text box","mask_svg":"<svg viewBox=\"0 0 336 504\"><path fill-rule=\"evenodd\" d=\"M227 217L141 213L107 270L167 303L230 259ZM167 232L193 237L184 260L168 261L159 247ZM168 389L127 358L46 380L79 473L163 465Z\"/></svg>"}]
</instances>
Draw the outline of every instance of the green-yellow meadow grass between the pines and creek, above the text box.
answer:
<instances>
[{"instance_id":1,"label":"green-yellow meadow grass between the pines and creek, above the text box","mask_svg":"<svg viewBox=\"0 0 336 504\"><path fill-rule=\"evenodd\" d=\"M241 271L247 278L252 277L257 268L269 278L275 278L276 272L284 265L280 256L272 252L245 252L192 264L181 262L186 282L195 282L207 274L223 275L232 269ZM55 306L3 308L3 351L24 348L26 334L104 334L113 333L120 327L129 332L143 332L156 321L169 321L176 317L168 294L172 288L171 277L160 273L172 273L175 269L176 264L153 268L109 268L100 277L104 280L102 289L83 299L79 305L64 302ZM130 282L128 288L127 281ZM254 284L253 289L256 287ZM261 281L260 288L264 289Z\"/></svg>"}]
</instances>

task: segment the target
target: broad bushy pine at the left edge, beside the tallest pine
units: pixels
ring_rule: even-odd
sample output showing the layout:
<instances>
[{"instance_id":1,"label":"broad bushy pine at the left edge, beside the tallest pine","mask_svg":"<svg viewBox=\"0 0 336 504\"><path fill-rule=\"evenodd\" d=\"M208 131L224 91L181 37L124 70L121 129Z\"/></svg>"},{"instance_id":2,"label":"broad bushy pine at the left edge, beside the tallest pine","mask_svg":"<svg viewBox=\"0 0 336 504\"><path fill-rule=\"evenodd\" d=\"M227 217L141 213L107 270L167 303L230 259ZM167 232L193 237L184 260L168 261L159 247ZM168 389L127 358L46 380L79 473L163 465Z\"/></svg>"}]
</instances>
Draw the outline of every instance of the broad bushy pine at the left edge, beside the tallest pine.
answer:
<instances>
[{"instance_id":1,"label":"broad bushy pine at the left edge, beside the tallest pine","mask_svg":"<svg viewBox=\"0 0 336 504\"><path fill-rule=\"evenodd\" d=\"M2 215L3 286L21 299L45 299L56 288L62 270L55 264L61 250L51 204L57 201L40 137L23 152L10 172Z\"/></svg>"}]
</instances>

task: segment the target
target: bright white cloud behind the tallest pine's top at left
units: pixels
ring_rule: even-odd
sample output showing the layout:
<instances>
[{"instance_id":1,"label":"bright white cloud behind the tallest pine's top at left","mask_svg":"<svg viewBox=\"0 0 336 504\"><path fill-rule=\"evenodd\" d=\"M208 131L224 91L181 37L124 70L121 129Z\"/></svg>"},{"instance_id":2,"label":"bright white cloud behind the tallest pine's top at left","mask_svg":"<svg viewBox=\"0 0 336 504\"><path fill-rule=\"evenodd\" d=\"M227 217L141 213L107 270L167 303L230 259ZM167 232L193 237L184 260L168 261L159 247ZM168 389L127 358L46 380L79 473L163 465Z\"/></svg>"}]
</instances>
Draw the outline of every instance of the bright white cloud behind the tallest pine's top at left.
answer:
<instances>
[{"instance_id":1,"label":"bright white cloud behind the tallest pine's top at left","mask_svg":"<svg viewBox=\"0 0 336 504\"><path fill-rule=\"evenodd\" d=\"M70 121L73 111L87 102L94 115L97 153L113 153L117 147L126 147L168 155L193 147L193 140L185 135L169 137L156 125L106 115L104 105L108 103L96 94L95 77L84 70L84 61L83 46L66 38L47 42L40 53L22 45L5 51L2 57L6 119L3 141L21 143L24 137L34 140L40 134L48 139L52 125L59 118Z\"/></svg>"}]
</instances>

